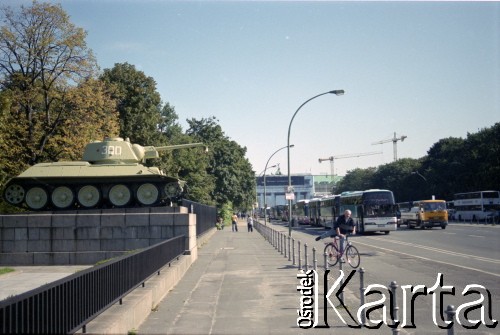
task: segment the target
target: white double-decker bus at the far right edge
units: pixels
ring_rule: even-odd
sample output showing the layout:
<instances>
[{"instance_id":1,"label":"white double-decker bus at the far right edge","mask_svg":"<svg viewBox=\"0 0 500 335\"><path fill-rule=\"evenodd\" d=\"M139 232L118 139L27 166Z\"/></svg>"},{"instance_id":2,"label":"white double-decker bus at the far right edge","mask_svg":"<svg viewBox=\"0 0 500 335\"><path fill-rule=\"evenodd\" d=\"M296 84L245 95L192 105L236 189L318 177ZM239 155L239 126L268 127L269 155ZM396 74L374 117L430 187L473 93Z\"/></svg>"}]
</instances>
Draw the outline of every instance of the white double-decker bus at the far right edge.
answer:
<instances>
[{"instance_id":1,"label":"white double-decker bus at the far right edge","mask_svg":"<svg viewBox=\"0 0 500 335\"><path fill-rule=\"evenodd\" d=\"M453 198L454 217L458 221L483 221L500 211L499 191L457 193Z\"/></svg>"}]
</instances>

